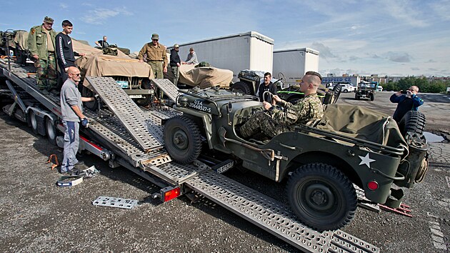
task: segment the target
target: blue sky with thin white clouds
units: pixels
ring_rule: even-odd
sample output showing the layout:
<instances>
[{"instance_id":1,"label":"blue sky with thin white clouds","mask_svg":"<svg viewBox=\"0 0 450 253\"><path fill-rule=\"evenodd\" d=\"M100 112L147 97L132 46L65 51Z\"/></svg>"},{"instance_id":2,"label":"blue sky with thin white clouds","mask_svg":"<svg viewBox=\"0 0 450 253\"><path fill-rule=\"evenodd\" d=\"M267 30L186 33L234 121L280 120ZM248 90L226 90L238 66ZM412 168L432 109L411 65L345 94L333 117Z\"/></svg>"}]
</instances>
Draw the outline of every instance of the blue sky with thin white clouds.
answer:
<instances>
[{"instance_id":1,"label":"blue sky with thin white clouds","mask_svg":"<svg viewBox=\"0 0 450 253\"><path fill-rule=\"evenodd\" d=\"M2 1L0 31L55 19L71 36L139 51L159 34L166 46L257 31L274 50L319 51L319 72L450 76L450 0ZM6 11L9 10L9 11ZM201 60L201 56L199 55Z\"/></svg>"}]
</instances>

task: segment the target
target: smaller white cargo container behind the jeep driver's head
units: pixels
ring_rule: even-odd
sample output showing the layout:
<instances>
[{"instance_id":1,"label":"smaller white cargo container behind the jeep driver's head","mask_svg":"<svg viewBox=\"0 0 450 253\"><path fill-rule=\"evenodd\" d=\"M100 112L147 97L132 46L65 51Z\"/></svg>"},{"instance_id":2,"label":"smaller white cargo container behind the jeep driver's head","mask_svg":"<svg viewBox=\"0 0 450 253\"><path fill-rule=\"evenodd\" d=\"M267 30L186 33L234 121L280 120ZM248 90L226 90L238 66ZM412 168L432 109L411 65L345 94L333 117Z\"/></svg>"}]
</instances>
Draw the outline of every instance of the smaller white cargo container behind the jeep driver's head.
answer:
<instances>
[{"instance_id":1,"label":"smaller white cargo container behind the jeep driver's head","mask_svg":"<svg viewBox=\"0 0 450 253\"><path fill-rule=\"evenodd\" d=\"M299 84L306 71L319 71L319 51L309 48L274 51L274 73L283 73L285 86Z\"/></svg>"}]
</instances>

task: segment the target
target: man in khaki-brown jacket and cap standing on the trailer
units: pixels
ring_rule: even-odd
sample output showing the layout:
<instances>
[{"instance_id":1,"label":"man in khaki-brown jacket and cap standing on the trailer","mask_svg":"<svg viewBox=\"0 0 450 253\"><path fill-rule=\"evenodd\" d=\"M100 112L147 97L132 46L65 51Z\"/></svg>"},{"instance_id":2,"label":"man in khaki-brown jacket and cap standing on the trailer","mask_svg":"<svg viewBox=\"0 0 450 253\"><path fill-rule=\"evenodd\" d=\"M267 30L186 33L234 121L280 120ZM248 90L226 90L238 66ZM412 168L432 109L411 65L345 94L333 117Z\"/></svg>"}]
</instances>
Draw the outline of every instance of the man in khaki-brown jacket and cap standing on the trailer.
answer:
<instances>
[{"instance_id":1,"label":"man in khaki-brown jacket and cap standing on the trailer","mask_svg":"<svg viewBox=\"0 0 450 253\"><path fill-rule=\"evenodd\" d=\"M167 72L167 54L166 46L159 44L159 35L151 34L151 42L142 46L139 51L138 59L140 62L144 62L144 54L147 55L147 63L151 66L151 70L158 79L164 78L164 73Z\"/></svg>"}]
</instances>

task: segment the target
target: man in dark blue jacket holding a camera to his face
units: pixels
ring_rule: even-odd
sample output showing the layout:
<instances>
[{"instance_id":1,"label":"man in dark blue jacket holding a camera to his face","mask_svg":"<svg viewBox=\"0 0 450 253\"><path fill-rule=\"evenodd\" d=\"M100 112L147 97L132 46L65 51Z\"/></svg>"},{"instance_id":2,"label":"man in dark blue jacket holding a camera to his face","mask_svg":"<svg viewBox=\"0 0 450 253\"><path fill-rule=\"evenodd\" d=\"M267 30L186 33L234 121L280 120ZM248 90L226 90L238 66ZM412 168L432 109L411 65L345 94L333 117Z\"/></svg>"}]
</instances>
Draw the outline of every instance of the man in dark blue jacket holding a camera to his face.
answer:
<instances>
[{"instance_id":1,"label":"man in dark blue jacket holding a camera to his face","mask_svg":"<svg viewBox=\"0 0 450 253\"><path fill-rule=\"evenodd\" d=\"M419 92L418 86L411 86L409 89L405 91L397 91L392 94L390 100L392 103L397 103L397 108L394 111L394 116L392 116L395 121L400 122L403 116L405 116L408 111L417 111L419 110L419 106L424 104L424 100L422 100L417 93Z\"/></svg>"}]
</instances>

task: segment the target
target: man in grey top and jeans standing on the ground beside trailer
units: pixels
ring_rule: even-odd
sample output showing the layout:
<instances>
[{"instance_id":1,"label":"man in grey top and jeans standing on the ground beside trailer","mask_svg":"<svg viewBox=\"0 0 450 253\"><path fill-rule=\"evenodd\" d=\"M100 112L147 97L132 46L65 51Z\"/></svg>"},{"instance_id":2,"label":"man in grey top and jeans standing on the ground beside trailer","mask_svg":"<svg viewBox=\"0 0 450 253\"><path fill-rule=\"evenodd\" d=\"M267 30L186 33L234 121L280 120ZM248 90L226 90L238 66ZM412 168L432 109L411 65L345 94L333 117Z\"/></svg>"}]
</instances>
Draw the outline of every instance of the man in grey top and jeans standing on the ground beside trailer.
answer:
<instances>
[{"instance_id":1,"label":"man in grey top and jeans standing on the ground beside trailer","mask_svg":"<svg viewBox=\"0 0 450 253\"><path fill-rule=\"evenodd\" d=\"M64 125L64 159L61 163L61 173L71 173L76 164L82 164L76 159L79 147L79 122L88 127L89 121L83 114L81 102L94 101L94 97L81 97L78 83L80 71L75 66L67 69L68 78L61 88L61 114Z\"/></svg>"}]
</instances>

